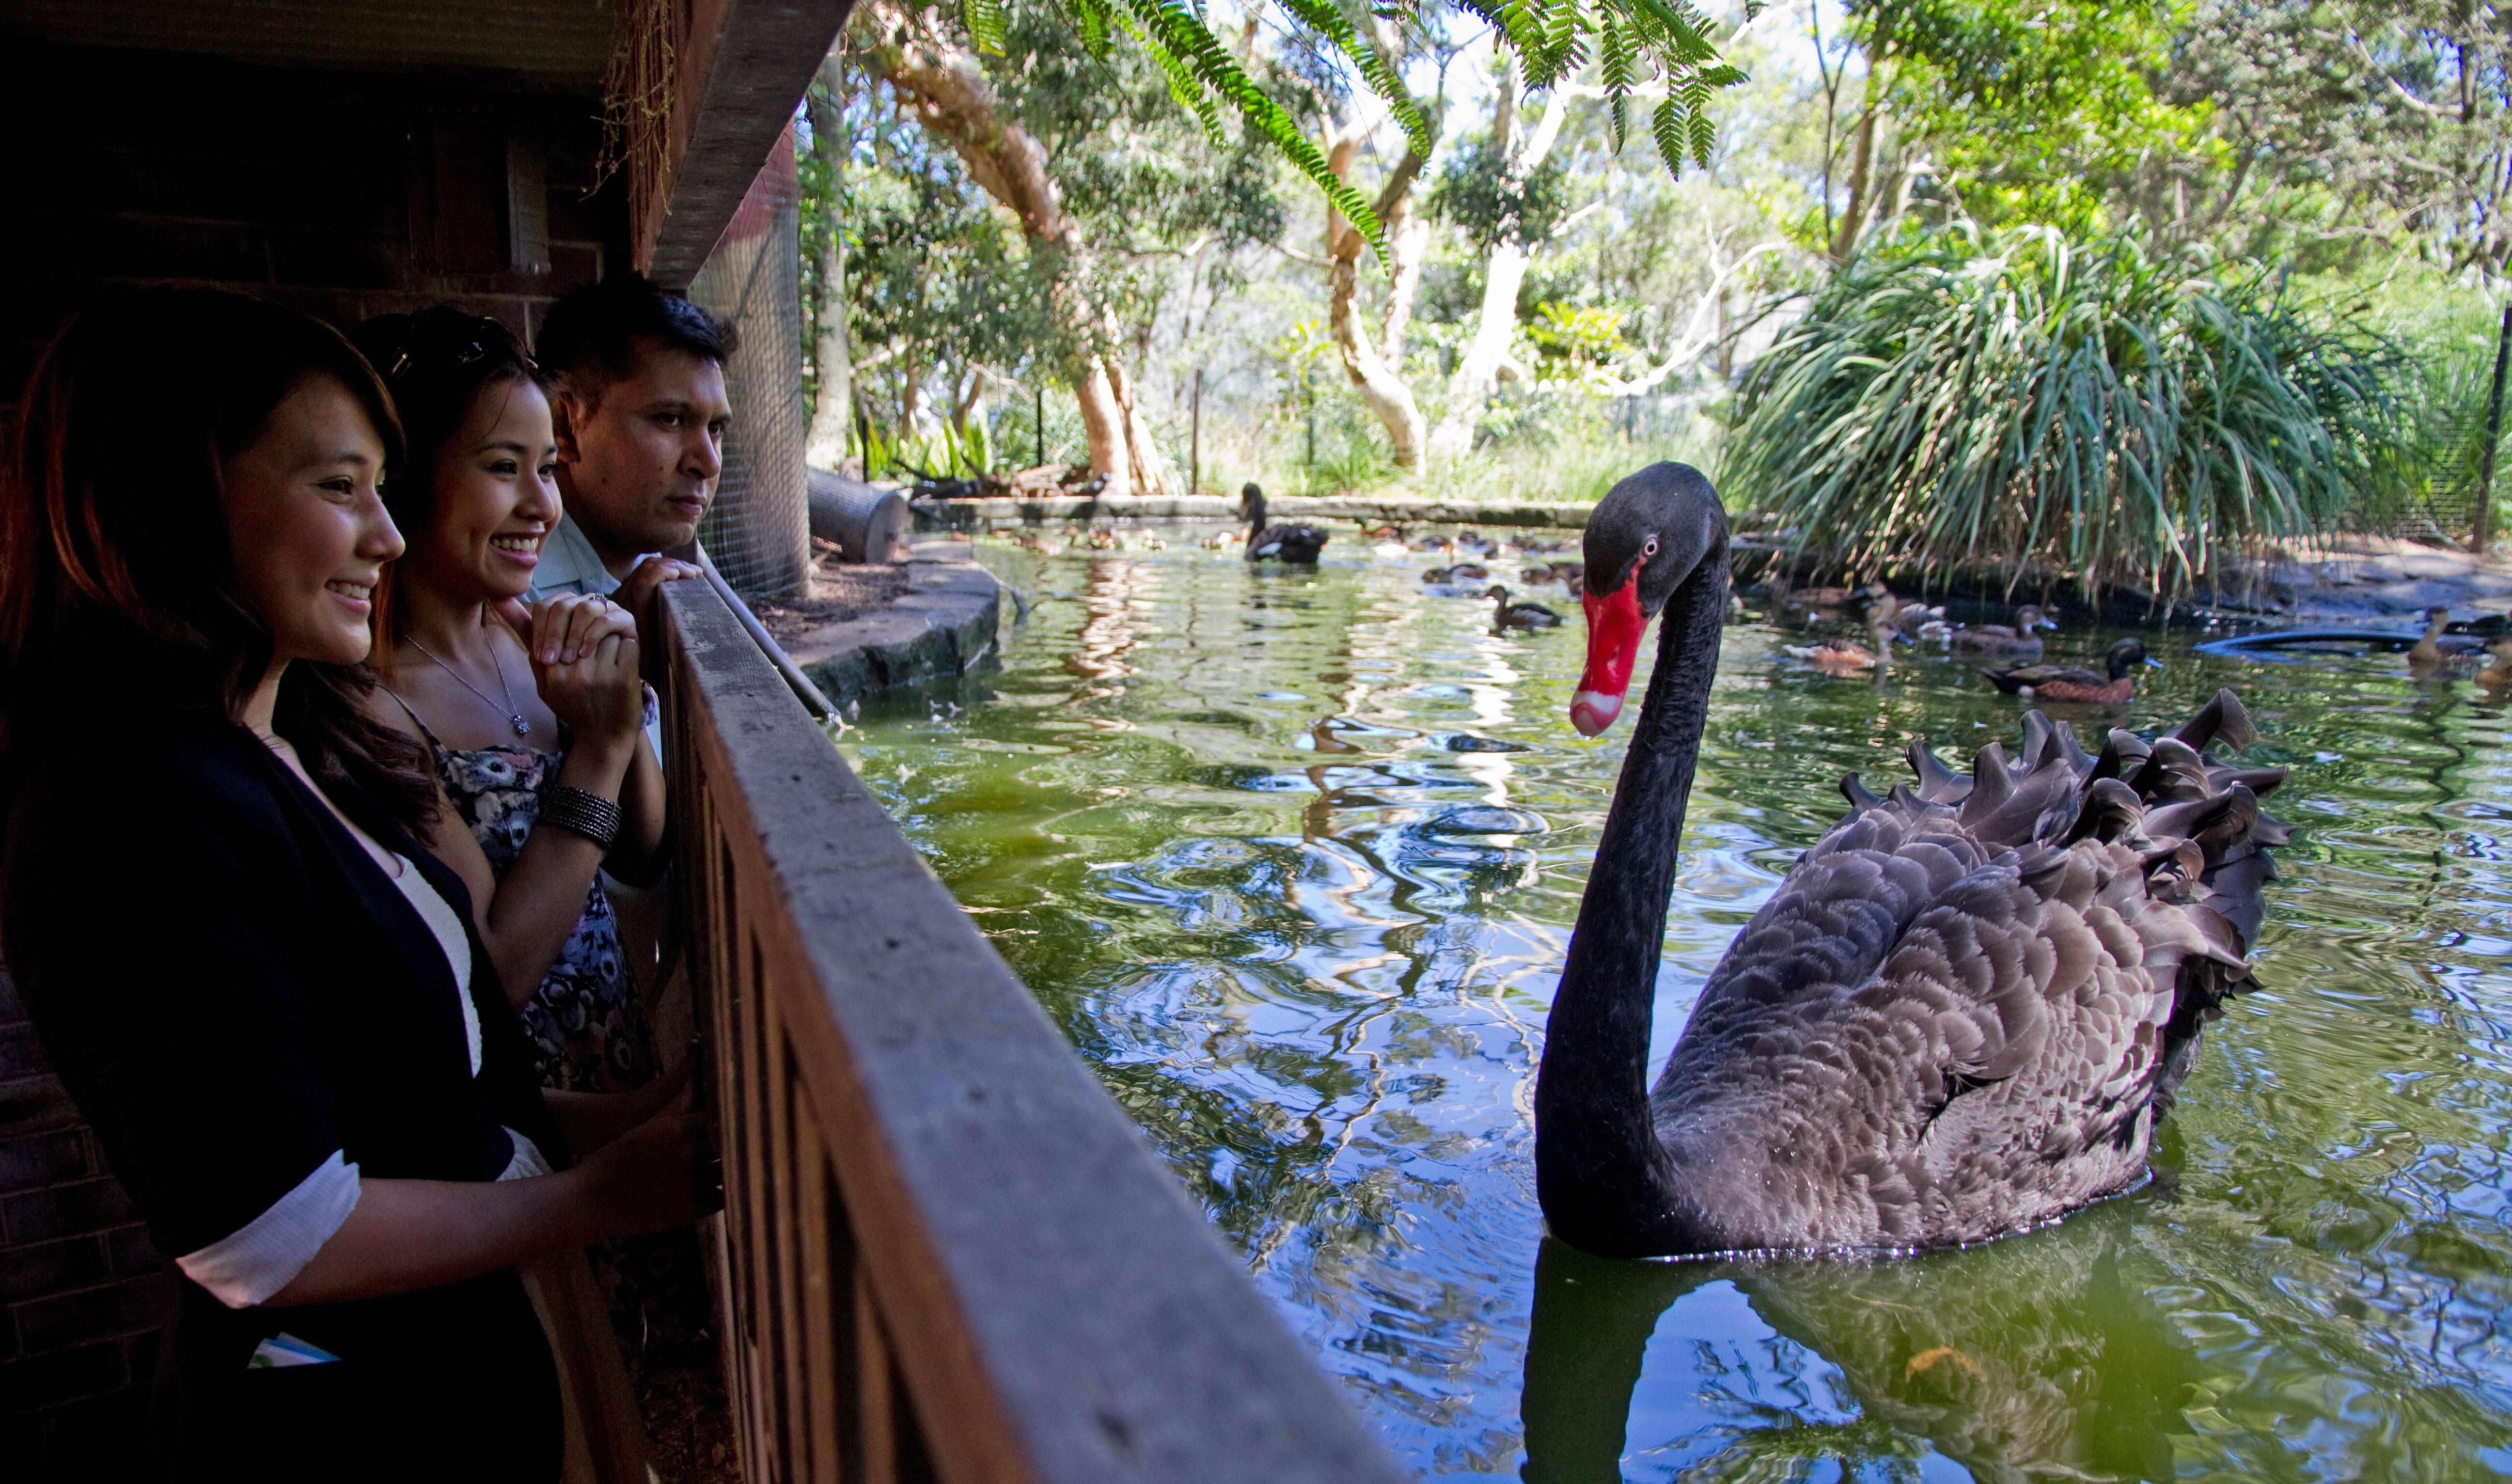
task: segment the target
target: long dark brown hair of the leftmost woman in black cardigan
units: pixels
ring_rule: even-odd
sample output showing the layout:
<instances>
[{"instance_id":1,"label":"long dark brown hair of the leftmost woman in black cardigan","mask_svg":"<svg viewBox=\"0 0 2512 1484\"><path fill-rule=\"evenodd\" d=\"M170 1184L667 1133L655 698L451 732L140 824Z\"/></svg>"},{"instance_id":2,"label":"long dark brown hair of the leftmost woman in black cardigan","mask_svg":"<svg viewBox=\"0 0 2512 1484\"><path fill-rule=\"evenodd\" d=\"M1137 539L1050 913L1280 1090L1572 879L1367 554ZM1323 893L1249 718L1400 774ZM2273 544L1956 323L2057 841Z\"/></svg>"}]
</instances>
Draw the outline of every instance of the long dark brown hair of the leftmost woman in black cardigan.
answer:
<instances>
[{"instance_id":1,"label":"long dark brown hair of the leftmost woman in black cardigan","mask_svg":"<svg viewBox=\"0 0 2512 1484\"><path fill-rule=\"evenodd\" d=\"M98 716L239 721L271 630L236 575L229 462L306 379L332 377L399 462L374 369L332 326L241 294L141 289L53 336L0 472L0 766ZM362 665L289 665L274 726L317 778L404 826L435 814L425 748L379 726ZM108 726L116 721L108 721Z\"/></svg>"}]
</instances>

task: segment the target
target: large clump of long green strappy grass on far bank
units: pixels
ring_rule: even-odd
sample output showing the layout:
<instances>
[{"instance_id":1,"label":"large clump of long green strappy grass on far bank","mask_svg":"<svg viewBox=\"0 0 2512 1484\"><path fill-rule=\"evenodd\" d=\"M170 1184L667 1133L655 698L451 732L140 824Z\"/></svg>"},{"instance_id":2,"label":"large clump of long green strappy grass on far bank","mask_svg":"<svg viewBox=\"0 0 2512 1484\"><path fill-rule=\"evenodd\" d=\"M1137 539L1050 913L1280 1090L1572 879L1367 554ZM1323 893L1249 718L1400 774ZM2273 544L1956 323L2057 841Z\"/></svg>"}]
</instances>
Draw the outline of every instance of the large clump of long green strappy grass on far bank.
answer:
<instances>
[{"instance_id":1,"label":"large clump of long green strappy grass on far bank","mask_svg":"<svg viewBox=\"0 0 2512 1484\"><path fill-rule=\"evenodd\" d=\"M2130 226L1952 226L1839 269L1746 374L1723 480L1856 570L2175 593L2394 480L2401 354Z\"/></svg>"}]
</instances>

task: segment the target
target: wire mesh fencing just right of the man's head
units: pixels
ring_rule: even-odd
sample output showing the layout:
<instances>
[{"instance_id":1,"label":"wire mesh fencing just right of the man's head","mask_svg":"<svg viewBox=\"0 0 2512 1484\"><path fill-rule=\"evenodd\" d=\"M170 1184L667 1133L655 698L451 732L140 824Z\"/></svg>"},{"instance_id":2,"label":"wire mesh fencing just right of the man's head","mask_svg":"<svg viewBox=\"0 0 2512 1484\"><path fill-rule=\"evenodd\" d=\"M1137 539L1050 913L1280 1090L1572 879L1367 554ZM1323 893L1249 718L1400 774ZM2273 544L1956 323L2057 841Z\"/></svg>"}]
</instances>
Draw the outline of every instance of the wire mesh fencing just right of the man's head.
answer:
<instances>
[{"instance_id":1,"label":"wire mesh fencing just right of the man's head","mask_svg":"<svg viewBox=\"0 0 2512 1484\"><path fill-rule=\"evenodd\" d=\"M801 457L811 414L801 394L801 183L791 128L751 181L688 296L741 334L723 367L734 404L723 480L698 540L744 598L799 593L811 555Z\"/></svg>"}]
</instances>

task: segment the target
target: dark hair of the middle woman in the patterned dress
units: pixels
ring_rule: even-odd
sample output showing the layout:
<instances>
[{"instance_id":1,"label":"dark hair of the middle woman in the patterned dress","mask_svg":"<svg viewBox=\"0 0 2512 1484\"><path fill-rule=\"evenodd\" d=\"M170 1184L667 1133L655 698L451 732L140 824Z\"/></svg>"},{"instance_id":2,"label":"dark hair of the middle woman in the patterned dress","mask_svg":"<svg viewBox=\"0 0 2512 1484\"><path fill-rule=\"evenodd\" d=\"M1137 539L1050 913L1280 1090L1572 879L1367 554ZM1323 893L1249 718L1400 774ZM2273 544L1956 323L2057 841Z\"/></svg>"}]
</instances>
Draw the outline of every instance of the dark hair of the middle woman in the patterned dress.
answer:
<instances>
[{"instance_id":1,"label":"dark hair of the middle woman in the patterned dress","mask_svg":"<svg viewBox=\"0 0 2512 1484\"><path fill-rule=\"evenodd\" d=\"M349 331L349 344L384 374L392 407L402 414L409 452L384 482L384 510L402 527L402 537L417 545L420 532L437 520L437 460L470 424L480 389L500 382L538 384L540 372L533 369L533 357L515 331L495 319L462 314L452 304L417 314L377 314ZM402 643L407 623L397 565L387 565L384 580L374 588L374 638L384 645Z\"/></svg>"}]
</instances>

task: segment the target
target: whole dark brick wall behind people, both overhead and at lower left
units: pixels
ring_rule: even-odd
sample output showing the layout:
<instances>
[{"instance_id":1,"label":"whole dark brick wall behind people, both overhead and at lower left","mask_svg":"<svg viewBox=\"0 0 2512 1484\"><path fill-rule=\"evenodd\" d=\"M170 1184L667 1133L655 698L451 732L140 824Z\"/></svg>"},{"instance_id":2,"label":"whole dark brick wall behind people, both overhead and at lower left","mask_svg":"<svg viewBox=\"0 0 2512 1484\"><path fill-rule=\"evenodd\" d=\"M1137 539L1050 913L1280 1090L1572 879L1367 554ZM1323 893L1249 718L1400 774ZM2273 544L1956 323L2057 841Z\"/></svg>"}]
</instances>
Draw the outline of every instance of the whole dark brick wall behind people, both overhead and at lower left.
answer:
<instances>
[{"instance_id":1,"label":"whole dark brick wall behind people, both overhead and at lower left","mask_svg":"<svg viewBox=\"0 0 2512 1484\"><path fill-rule=\"evenodd\" d=\"M628 261L590 98L198 55L0 45L0 409L123 284L342 329L442 299L517 331ZM0 1476L133 1476L171 1281L0 977Z\"/></svg>"}]
</instances>

